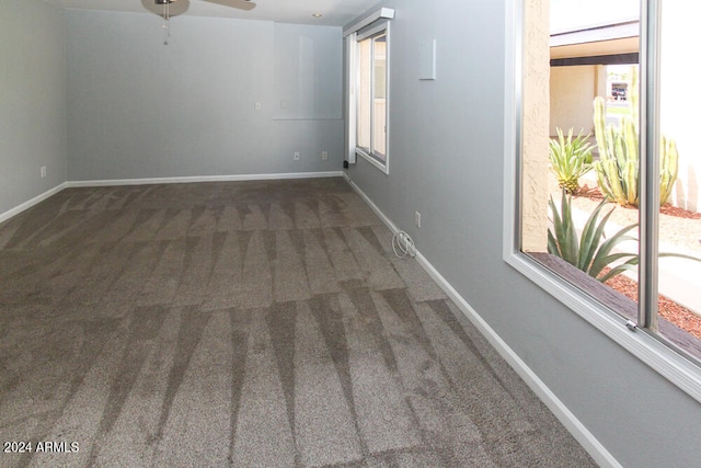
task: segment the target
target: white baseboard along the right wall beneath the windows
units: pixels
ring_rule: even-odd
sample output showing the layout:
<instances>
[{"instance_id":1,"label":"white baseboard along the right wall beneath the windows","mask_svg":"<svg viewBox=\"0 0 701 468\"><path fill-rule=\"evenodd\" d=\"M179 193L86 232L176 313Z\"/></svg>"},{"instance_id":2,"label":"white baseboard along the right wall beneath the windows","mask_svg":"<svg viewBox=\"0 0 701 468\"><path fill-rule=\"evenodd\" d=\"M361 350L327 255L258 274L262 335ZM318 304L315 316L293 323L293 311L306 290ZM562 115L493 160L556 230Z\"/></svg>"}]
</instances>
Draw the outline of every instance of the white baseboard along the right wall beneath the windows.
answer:
<instances>
[{"instance_id":1,"label":"white baseboard along the right wall beneath the windows","mask_svg":"<svg viewBox=\"0 0 701 468\"><path fill-rule=\"evenodd\" d=\"M378 217L392 231L397 232L397 226L388 218L377 205L346 175L353 190L370 206ZM458 306L472 324L484 335L499 355L508 363L518 376L530 387L536 396L548 407L558 420L565 426L572 436L601 467L621 467L621 464L606 449L604 445L591 434L587 427L570 411L570 409L553 393L538 375L519 357L514 350L494 331L492 327L470 306L470 304L452 287L450 283L436 270L430 262L416 250L416 261L428 275L440 286L448 297Z\"/></svg>"}]
</instances>

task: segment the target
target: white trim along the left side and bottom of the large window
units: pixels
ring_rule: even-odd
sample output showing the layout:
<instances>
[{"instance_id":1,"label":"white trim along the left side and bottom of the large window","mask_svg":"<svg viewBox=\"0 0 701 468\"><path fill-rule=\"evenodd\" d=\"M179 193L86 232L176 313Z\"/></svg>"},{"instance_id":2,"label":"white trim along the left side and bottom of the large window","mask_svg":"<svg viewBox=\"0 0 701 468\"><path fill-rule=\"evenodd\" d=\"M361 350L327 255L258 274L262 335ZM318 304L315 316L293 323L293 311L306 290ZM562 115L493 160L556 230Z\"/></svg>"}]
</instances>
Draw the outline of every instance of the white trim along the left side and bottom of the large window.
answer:
<instances>
[{"instance_id":1,"label":"white trim along the left side and bottom of the large window","mask_svg":"<svg viewBox=\"0 0 701 468\"><path fill-rule=\"evenodd\" d=\"M648 334L644 329L630 330L624 318L610 312L595 299L516 248L520 197L516 155L521 146L519 114L522 100L521 2L522 0L507 0L505 5L504 261L691 398L701 402L701 367Z\"/></svg>"}]
</instances>

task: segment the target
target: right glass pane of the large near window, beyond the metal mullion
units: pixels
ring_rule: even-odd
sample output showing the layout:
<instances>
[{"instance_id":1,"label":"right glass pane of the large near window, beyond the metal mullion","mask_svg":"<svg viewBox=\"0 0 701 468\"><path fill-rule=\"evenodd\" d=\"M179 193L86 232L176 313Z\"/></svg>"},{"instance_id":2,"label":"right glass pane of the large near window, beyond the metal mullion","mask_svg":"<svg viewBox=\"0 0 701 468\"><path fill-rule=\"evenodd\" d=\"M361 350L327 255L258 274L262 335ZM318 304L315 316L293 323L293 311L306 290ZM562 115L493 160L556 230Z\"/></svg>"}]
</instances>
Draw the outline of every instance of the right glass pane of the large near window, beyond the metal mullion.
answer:
<instances>
[{"instance_id":1,"label":"right glass pane of the large near window, beyond the metal mullion","mask_svg":"<svg viewBox=\"0 0 701 468\"><path fill-rule=\"evenodd\" d=\"M701 98L687 77L696 75L689 56L698 2L663 0L659 37L659 192L658 332L673 342L701 346L701 263L666 254L701 258L699 180L696 150Z\"/></svg>"}]
</instances>

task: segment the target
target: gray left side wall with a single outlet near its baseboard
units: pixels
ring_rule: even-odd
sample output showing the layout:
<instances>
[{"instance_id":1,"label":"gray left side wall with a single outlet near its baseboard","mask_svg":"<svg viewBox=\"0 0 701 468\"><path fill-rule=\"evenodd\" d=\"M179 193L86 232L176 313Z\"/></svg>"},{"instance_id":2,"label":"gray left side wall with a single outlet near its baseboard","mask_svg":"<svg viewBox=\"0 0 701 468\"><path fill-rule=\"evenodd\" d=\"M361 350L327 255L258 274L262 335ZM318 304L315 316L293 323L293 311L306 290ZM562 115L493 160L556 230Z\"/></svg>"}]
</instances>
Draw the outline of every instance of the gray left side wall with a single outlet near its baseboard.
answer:
<instances>
[{"instance_id":1,"label":"gray left side wall with a single outlet near its baseboard","mask_svg":"<svg viewBox=\"0 0 701 468\"><path fill-rule=\"evenodd\" d=\"M64 14L39 0L2 0L0 215L65 180Z\"/></svg>"}]
</instances>

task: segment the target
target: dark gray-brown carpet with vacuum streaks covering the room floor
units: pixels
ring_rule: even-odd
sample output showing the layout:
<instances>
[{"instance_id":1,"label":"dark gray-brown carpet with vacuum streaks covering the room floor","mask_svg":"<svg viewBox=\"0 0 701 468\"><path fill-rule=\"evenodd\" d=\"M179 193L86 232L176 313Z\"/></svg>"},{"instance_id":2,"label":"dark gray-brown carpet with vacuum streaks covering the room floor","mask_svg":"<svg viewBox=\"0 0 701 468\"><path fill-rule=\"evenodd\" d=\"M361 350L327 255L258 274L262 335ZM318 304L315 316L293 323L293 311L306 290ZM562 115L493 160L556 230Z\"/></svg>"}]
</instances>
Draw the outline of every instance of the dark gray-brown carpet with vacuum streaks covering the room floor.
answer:
<instances>
[{"instance_id":1,"label":"dark gray-brown carpet with vacuum streaks covering the room floor","mask_svg":"<svg viewBox=\"0 0 701 468\"><path fill-rule=\"evenodd\" d=\"M342 179L0 225L0 435L34 446L2 467L594 465Z\"/></svg>"}]
</instances>

